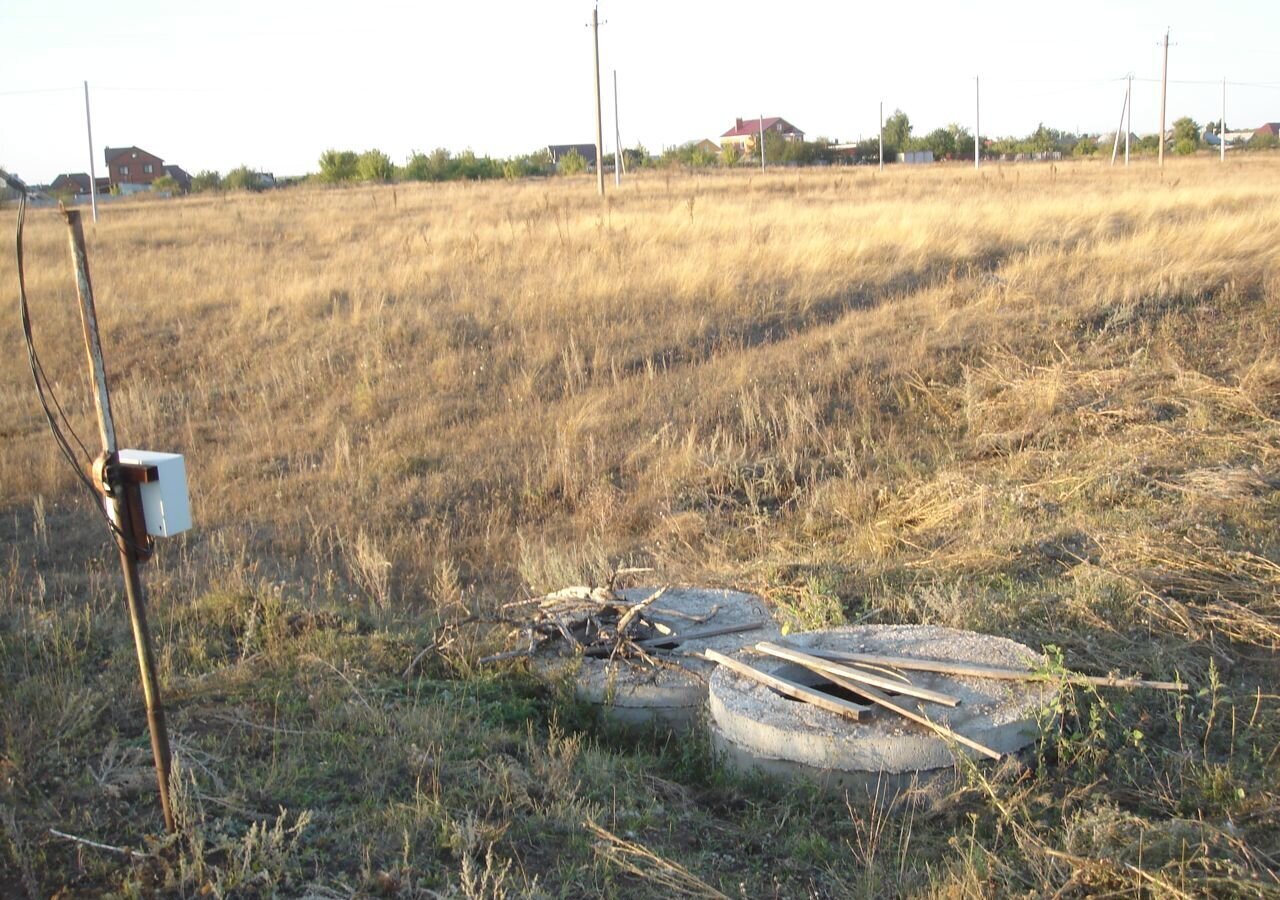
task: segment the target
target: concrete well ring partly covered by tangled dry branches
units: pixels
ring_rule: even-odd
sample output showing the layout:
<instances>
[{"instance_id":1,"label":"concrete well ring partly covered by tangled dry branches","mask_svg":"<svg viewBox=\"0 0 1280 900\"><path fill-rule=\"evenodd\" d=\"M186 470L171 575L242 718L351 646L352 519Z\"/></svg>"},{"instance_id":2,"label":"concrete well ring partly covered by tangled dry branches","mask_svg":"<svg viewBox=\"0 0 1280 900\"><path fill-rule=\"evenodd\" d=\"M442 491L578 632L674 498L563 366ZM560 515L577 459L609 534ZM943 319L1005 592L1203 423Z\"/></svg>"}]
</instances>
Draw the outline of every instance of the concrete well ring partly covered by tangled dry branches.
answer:
<instances>
[{"instance_id":1,"label":"concrete well ring partly covered by tangled dry branches","mask_svg":"<svg viewBox=\"0 0 1280 900\"><path fill-rule=\"evenodd\" d=\"M627 588L621 594L637 603L650 597L655 588ZM753 631L718 635L680 644L684 654L713 649L733 653L760 640L774 640L780 631L764 600L753 594L710 588L668 588L654 603L653 617L671 626L677 634L703 631L740 623L759 623ZM685 617L664 616L672 611ZM707 707L707 679L714 666L705 659L678 657L678 666L640 668L626 661L536 658L534 670L554 677L566 668L576 668L573 693L579 699L596 705L611 719L626 725L660 723L684 730L696 723Z\"/></svg>"}]
</instances>

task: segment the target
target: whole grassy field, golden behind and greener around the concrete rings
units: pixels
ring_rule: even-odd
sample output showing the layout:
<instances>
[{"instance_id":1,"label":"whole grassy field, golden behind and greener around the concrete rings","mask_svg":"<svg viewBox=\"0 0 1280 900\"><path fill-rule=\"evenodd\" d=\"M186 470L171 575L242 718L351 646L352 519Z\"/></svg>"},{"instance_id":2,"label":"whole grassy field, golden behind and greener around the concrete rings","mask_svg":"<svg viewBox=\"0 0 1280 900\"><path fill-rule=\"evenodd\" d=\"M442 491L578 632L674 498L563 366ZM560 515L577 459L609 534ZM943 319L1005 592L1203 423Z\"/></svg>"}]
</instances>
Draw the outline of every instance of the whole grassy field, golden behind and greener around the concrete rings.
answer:
<instances>
[{"instance_id":1,"label":"whole grassy field, golden behind and greener around the concrete rings","mask_svg":"<svg viewBox=\"0 0 1280 900\"><path fill-rule=\"evenodd\" d=\"M87 230L122 440L191 479L145 571L183 830L6 251L4 895L1280 896L1280 159L300 188ZM27 277L88 442L56 213ZM846 801L476 666L500 604L618 565L1194 690L1076 690L1025 768Z\"/></svg>"}]
</instances>

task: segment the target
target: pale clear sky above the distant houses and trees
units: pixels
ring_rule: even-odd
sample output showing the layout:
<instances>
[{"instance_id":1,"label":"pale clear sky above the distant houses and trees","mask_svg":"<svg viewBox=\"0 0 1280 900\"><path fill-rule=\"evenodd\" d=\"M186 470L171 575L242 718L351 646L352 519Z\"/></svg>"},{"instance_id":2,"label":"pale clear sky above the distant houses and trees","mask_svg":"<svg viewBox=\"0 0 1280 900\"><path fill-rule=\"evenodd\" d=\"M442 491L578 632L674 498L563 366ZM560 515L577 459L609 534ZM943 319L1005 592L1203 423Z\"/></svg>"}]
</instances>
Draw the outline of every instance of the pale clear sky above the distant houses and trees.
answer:
<instances>
[{"instance_id":1,"label":"pale clear sky above the distant houses and trees","mask_svg":"<svg viewBox=\"0 0 1280 900\"><path fill-rule=\"evenodd\" d=\"M32 183L88 168L88 82L102 149L138 146L188 172L315 172L326 149L471 149L509 156L594 141L591 3L492 0L0 3L0 166ZM1133 128L1280 120L1280 3L970 4L600 0L605 147L613 72L625 146L717 138L781 115L858 140L902 109L915 134L1112 132L1133 73Z\"/></svg>"}]
</instances>

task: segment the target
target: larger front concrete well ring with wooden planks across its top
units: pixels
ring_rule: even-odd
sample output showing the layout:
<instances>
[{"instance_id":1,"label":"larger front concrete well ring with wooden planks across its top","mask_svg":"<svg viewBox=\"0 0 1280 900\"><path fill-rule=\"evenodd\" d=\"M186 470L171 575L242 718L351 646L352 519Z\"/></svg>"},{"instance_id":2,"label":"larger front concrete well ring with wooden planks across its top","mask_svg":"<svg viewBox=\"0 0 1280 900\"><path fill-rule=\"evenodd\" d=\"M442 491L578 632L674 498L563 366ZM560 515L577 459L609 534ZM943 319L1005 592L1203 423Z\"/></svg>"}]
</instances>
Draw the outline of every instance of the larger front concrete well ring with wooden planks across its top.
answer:
<instances>
[{"instance_id":1,"label":"larger front concrete well ring with wooden planks across its top","mask_svg":"<svg viewBox=\"0 0 1280 900\"><path fill-rule=\"evenodd\" d=\"M929 625L852 626L791 635L797 648L818 648L897 657L922 657L986 666L1027 668L1041 662L1030 648L972 631ZM739 658L765 672L803 684L813 675L794 663L742 652ZM925 704L929 718L1000 753L1015 753L1038 735L1041 711L1051 704L1056 686L1048 682L909 672L911 682L952 694L960 705ZM901 698L904 705L915 702ZM915 773L950 771L955 764L948 743L929 728L886 709L854 722L777 691L727 668L710 679L708 708L712 739L727 764L777 775L812 777L833 785L872 785ZM970 753L965 750L966 753Z\"/></svg>"}]
</instances>

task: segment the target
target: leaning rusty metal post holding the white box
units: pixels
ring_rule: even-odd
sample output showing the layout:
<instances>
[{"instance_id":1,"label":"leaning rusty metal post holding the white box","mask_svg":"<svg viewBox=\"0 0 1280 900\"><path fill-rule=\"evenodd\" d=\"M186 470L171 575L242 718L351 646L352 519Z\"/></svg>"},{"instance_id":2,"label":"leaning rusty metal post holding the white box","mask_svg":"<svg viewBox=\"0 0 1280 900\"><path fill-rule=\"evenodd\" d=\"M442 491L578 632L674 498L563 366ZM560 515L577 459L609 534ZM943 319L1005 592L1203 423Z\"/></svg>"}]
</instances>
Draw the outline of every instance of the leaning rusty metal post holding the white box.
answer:
<instances>
[{"instance_id":1,"label":"leaning rusty metal post holding the white box","mask_svg":"<svg viewBox=\"0 0 1280 900\"><path fill-rule=\"evenodd\" d=\"M102 362L102 342L97 330L97 310L93 307L93 285L88 277L88 255L84 252L84 229L78 210L64 210L70 238L72 261L76 266L76 293L79 297L81 324L84 326L84 350L88 352L90 375L93 379L93 405L97 407L97 428L102 438L102 474L106 488L106 510L116 526L116 547L120 567L124 570L124 595L133 626L133 643L138 652L138 670L142 675L142 696L147 705L147 726L151 731L151 754L156 763L156 781L160 787L160 810L168 831L175 830L173 807L169 803L169 732L164 723L164 704L160 702L160 682L156 679L155 658L151 653L151 631L147 627L146 594L138 575L138 553L132 539L129 504L125 501L124 478L116 458L115 424L111 420L111 397L106 388L106 366Z\"/></svg>"}]
</instances>

